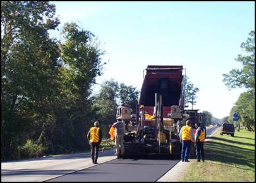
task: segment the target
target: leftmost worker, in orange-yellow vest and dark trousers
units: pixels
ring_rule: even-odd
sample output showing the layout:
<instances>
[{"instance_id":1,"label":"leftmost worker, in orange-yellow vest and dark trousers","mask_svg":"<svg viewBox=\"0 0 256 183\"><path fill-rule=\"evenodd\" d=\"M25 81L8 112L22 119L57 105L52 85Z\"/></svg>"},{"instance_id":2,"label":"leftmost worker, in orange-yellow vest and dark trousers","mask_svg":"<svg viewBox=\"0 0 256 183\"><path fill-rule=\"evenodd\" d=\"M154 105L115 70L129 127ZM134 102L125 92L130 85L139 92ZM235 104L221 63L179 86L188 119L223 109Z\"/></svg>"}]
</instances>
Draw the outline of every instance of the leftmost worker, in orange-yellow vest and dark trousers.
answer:
<instances>
[{"instance_id":1,"label":"leftmost worker, in orange-yellow vest and dark trousers","mask_svg":"<svg viewBox=\"0 0 256 183\"><path fill-rule=\"evenodd\" d=\"M98 121L94 122L94 127L90 128L87 138L90 144L90 155L92 157L92 163L98 164L98 152L99 146L102 142L102 131L100 130L100 123Z\"/></svg>"}]
</instances>

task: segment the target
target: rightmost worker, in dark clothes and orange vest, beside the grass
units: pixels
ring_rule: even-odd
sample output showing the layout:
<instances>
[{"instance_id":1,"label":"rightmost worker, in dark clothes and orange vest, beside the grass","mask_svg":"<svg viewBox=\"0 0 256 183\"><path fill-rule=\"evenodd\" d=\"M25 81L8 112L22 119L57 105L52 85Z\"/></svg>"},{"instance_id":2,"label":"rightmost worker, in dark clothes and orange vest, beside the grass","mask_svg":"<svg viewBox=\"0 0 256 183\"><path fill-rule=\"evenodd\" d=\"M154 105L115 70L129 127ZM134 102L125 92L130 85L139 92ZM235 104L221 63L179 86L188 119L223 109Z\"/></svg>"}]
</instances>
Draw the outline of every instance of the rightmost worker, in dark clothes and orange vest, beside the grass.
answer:
<instances>
[{"instance_id":1,"label":"rightmost worker, in dark clothes and orange vest, beside the grass","mask_svg":"<svg viewBox=\"0 0 256 183\"><path fill-rule=\"evenodd\" d=\"M197 123L196 125L197 133L195 134L195 151L197 155L197 162L200 162L201 159L203 162L205 162L205 128L203 128L203 126L200 126L199 123Z\"/></svg>"}]
</instances>

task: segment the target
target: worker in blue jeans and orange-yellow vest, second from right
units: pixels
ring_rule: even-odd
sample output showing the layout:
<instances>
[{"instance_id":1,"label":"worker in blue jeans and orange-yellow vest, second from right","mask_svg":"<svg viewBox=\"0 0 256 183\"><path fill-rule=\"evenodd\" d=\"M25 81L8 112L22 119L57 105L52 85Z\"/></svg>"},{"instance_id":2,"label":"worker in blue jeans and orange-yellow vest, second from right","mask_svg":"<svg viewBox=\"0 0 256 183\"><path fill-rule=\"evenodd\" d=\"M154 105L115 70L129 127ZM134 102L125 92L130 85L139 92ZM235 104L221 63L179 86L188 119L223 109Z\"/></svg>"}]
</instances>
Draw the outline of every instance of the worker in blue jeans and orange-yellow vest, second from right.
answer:
<instances>
[{"instance_id":1,"label":"worker in blue jeans and orange-yellow vest, second from right","mask_svg":"<svg viewBox=\"0 0 256 183\"><path fill-rule=\"evenodd\" d=\"M181 161L189 162L189 150L191 146L191 141L194 141L194 133L191 128L191 120L186 121L186 126L183 126L179 132L179 139L182 143L181 150Z\"/></svg>"}]
</instances>

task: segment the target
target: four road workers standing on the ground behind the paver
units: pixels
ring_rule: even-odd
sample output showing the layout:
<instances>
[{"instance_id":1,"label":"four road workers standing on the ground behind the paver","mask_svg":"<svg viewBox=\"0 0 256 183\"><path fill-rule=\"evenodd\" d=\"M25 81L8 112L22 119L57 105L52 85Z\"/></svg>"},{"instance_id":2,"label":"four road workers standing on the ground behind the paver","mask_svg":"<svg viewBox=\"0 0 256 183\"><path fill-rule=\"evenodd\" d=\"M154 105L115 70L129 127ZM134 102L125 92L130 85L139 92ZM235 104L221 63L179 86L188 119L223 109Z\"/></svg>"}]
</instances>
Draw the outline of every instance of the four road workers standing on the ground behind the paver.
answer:
<instances>
[{"instance_id":1,"label":"four road workers standing on the ground behind the paver","mask_svg":"<svg viewBox=\"0 0 256 183\"><path fill-rule=\"evenodd\" d=\"M181 149L181 161L189 162L189 151L191 148L191 142L195 143L196 149L196 157L197 161L200 162L205 161L205 153L203 145L205 144L205 128L200 126L199 123L196 124L197 130L194 131L191 127L191 120L186 121L186 125L183 126L179 132L179 139L182 144ZM123 136L125 134L125 124L121 120L121 117L117 118L117 122L115 122L110 128L110 140L115 138L115 155L119 157L125 153L125 149L123 146ZM91 157L92 163L98 164L98 150L100 143L102 142L102 131L100 130L100 123L98 121L94 122L94 126L90 128L87 138L91 147Z\"/></svg>"}]
</instances>

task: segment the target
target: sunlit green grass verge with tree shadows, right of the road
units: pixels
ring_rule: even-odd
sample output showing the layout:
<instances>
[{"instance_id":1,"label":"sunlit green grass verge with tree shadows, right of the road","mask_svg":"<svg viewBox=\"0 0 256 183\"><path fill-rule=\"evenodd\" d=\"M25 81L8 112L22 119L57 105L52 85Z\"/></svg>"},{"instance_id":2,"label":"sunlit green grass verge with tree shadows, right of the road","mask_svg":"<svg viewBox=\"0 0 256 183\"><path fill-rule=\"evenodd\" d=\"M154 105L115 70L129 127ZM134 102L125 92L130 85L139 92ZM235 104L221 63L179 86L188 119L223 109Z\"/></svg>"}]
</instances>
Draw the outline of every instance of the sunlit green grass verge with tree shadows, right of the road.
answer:
<instances>
[{"instance_id":1,"label":"sunlit green grass verge with tree shadows, right of the road","mask_svg":"<svg viewBox=\"0 0 256 183\"><path fill-rule=\"evenodd\" d=\"M205 163L191 162L180 181L255 181L255 132L217 131L205 144Z\"/></svg>"}]
</instances>

